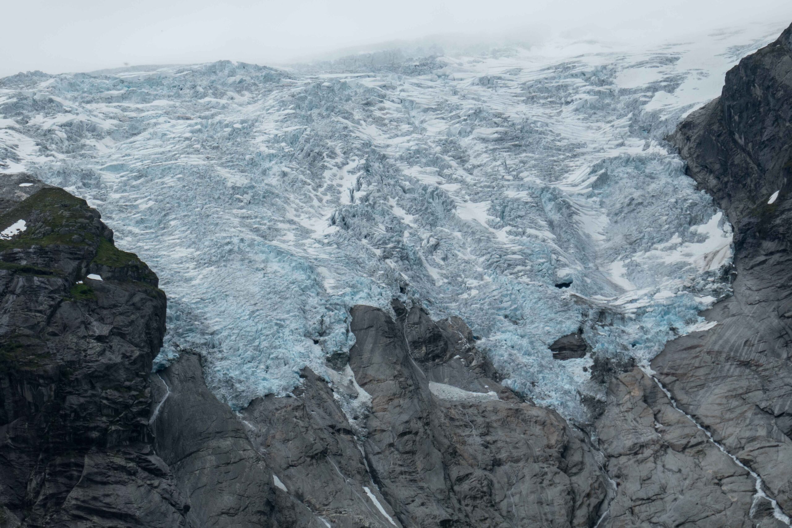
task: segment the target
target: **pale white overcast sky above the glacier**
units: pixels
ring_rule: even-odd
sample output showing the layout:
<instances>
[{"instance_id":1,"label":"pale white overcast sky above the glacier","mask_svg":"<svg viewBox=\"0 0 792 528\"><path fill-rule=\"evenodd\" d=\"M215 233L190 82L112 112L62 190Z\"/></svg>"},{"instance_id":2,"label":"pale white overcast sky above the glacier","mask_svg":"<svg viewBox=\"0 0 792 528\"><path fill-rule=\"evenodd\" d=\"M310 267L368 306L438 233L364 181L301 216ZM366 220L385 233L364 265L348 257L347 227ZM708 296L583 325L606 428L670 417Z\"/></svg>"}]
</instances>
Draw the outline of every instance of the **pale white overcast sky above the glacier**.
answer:
<instances>
[{"instance_id":1,"label":"pale white overcast sky above the glacier","mask_svg":"<svg viewBox=\"0 0 792 528\"><path fill-rule=\"evenodd\" d=\"M231 59L278 65L341 48L454 34L661 41L751 21L790 0L5 0L0 77Z\"/></svg>"}]
</instances>

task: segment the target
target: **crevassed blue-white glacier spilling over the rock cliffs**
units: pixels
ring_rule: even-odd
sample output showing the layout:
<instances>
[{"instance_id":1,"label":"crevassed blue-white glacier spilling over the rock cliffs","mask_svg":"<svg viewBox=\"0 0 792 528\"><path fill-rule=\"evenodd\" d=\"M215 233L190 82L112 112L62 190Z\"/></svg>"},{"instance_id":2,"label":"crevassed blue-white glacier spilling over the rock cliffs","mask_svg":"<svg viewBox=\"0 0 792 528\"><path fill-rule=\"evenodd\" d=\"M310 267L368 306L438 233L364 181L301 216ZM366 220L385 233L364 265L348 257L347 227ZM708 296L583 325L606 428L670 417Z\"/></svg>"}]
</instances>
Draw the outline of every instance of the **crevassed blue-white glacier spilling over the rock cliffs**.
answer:
<instances>
[{"instance_id":1,"label":"crevassed blue-white glacier spilling over the rock cliffs","mask_svg":"<svg viewBox=\"0 0 792 528\"><path fill-rule=\"evenodd\" d=\"M0 172L102 212L168 294L156 364L199 350L232 408L332 378L349 308L400 298L463 317L505 385L585 421L592 358L554 340L645 363L729 294L731 227L663 138L779 28L17 74Z\"/></svg>"}]
</instances>

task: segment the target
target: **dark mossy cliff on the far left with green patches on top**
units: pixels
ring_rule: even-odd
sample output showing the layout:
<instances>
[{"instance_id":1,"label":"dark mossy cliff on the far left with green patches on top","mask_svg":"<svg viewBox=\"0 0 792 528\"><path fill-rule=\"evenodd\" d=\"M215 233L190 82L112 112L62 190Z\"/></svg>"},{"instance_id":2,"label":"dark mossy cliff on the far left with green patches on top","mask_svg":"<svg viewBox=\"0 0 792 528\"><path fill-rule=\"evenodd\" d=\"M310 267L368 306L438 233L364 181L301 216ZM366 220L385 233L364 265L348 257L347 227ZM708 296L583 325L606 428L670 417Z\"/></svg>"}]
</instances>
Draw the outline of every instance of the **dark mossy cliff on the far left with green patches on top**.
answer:
<instances>
[{"instance_id":1,"label":"dark mossy cliff on the far left with green patches on top","mask_svg":"<svg viewBox=\"0 0 792 528\"><path fill-rule=\"evenodd\" d=\"M185 526L148 428L156 276L63 189L4 177L0 205L25 221L0 240L0 526Z\"/></svg>"}]
</instances>

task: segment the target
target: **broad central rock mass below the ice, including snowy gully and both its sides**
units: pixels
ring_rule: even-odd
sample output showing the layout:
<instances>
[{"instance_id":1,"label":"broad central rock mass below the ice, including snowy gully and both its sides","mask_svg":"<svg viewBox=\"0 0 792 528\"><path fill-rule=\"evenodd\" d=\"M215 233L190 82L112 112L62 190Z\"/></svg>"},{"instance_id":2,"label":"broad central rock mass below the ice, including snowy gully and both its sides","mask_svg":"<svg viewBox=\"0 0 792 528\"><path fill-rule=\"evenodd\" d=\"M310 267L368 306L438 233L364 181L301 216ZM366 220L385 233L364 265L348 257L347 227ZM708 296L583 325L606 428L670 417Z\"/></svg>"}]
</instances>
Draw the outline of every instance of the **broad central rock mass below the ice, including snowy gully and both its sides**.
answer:
<instances>
[{"instance_id":1,"label":"broad central rock mass below the ice, including snowy gully and both its sides","mask_svg":"<svg viewBox=\"0 0 792 528\"><path fill-rule=\"evenodd\" d=\"M586 437L495 381L461 320L394 313L356 306L334 382L303 370L241 412L284 488L331 526L592 526L607 481Z\"/></svg>"}]
</instances>

